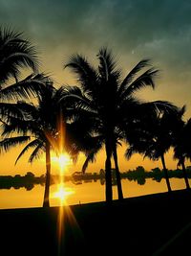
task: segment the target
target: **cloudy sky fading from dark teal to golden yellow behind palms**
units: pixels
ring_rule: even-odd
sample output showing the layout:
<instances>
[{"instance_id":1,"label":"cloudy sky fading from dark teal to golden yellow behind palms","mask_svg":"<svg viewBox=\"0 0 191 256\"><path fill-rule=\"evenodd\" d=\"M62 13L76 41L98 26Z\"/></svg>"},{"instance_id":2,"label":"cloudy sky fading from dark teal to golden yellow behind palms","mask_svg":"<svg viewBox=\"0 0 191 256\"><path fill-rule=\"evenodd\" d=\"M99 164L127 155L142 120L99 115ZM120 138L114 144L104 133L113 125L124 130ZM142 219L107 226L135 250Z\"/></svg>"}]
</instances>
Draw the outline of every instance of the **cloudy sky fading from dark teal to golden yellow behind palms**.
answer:
<instances>
[{"instance_id":1,"label":"cloudy sky fading from dark teal to golden yellow behind palms","mask_svg":"<svg viewBox=\"0 0 191 256\"><path fill-rule=\"evenodd\" d=\"M140 59L150 58L159 69L156 89L141 90L138 97L186 105L185 120L191 117L190 13L189 0L0 0L0 25L23 32L32 41L41 60L40 71L51 74L57 86L75 82L73 74L63 69L71 55L82 54L96 65L96 53L107 46L124 75ZM24 159L14 167L19 150L0 156L2 174L44 172L43 161L31 166ZM127 162L123 152L124 148L119 149L122 171L138 165L158 166L142 162L138 155ZM101 152L89 170L104 168L104 157ZM82 161L80 157L74 171L79 171ZM171 154L167 167L176 168Z\"/></svg>"}]
</instances>

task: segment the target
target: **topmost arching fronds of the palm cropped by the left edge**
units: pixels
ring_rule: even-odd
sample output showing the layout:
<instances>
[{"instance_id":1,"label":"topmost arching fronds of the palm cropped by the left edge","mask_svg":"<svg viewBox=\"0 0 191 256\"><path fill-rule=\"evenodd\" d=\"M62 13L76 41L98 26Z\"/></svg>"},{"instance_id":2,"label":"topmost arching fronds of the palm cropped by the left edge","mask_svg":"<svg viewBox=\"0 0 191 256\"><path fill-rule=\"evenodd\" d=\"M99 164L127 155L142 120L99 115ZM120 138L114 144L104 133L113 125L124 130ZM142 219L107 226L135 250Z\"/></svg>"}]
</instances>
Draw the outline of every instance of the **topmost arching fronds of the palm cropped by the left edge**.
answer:
<instances>
[{"instance_id":1,"label":"topmost arching fronds of the palm cropped by the left edge","mask_svg":"<svg viewBox=\"0 0 191 256\"><path fill-rule=\"evenodd\" d=\"M37 72L39 60L32 43L10 28L0 28L0 81L19 77L20 68L32 68Z\"/></svg>"}]
</instances>

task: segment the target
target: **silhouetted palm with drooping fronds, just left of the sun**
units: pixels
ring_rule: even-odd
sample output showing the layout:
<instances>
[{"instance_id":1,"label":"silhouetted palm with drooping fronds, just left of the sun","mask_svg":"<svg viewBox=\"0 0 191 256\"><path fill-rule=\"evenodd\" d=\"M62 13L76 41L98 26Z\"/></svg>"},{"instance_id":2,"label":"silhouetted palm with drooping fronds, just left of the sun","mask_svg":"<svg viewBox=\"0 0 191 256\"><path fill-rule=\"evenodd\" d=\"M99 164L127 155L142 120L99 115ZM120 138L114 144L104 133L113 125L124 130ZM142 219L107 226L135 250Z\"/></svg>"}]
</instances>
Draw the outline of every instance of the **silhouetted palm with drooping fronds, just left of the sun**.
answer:
<instances>
[{"instance_id":1,"label":"silhouetted palm with drooping fronds, just left of the sun","mask_svg":"<svg viewBox=\"0 0 191 256\"><path fill-rule=\"evenodd\" d=\"M11 147L25 144L15 164L27 151L32 150L29 158L31 163L45 151L46 182L43 207L50 206L51 150L58 151L59 148L60 123L63 122L60 103L63 92L62 87L56 89L51 81L46 81L44 86L41 86L41 93L37 95L36 105L18 102L15 106L20 115L9 117L9 124L4 124L2 134L5 138L0 142L1 151L8 151ZM12 136L15 132L17 135Z\"/></svg>"}]
</instances>

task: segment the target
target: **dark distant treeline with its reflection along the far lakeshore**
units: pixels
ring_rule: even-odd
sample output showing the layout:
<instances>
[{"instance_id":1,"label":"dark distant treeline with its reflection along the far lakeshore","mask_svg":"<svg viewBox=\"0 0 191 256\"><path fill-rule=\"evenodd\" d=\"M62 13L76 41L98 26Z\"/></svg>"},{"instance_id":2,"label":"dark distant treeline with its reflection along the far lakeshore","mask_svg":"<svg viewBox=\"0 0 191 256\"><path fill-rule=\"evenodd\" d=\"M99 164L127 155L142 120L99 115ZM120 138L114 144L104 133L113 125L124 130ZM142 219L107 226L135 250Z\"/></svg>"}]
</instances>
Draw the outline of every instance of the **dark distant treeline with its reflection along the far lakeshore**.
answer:
<instances>
[{"instance_id":1,"label":"dark distant treeline with its reflection along the far lakeshore","mask_svg":"<svg viewBox=\"0 0 191 256\"><path fill-rule=\"evenodd\" d=\"M188 177L191 178L191 168L187 170ZM74 185L83 185L84 183L96 182L99 180L100 185L105 185L105 172L104 170L100 170L99 173L94 174L85 174L83 175L81 172L75 172L75 175L65 176L65 182L73 182ZM182 178L182 172L180 169L175 171L168 171L169 177L178 177ZM147 178L151 178L156 182L160 182L163 178L163 172L159 168L152 169L151 172L146 172L143 167L138 166L134 171L128 171L126 173L121 174L122 179L127 179L129 181L135 181L138 185L144 185L146 183ZM59 180L58 175L52 175L51 185L57 183ZM31 191L33 187L37 184L44 186L45 176L34 176L31 172L28 172L26 175L5 175L0 176L0 189L20 189L25 188L27 191ZM117 185L117 178L115 170L112 171L112 185Z\"/></svg>"}]
</instances>

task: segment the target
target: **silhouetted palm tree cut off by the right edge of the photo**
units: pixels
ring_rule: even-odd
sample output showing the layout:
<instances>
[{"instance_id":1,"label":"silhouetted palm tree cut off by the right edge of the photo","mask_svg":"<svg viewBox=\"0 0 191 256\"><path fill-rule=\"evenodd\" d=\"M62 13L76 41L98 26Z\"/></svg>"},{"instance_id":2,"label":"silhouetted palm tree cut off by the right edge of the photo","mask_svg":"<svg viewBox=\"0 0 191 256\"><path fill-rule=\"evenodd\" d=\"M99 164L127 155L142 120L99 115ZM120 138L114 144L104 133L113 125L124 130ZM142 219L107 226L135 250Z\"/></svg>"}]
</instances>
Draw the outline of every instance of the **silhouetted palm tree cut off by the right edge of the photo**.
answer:
<instances>
[{"instance_id":1,"label":"silhouetted palm tree cut off by the right edge of the photo","mask_svg":"<svg viewBox=\"0 0 191 256\"><path fill-rule=\"evenodd\" d=\"M185 169L185 159L191 159L191 119L187 122L182 120L185 107L181 108L179 115L177 116L175 129L173 132L173 147L174 147L174 158L178 159L178 166L181 166L183 178L185 180L186 189L190 190L190 185Z\"/></svg>"}]
</instances>

